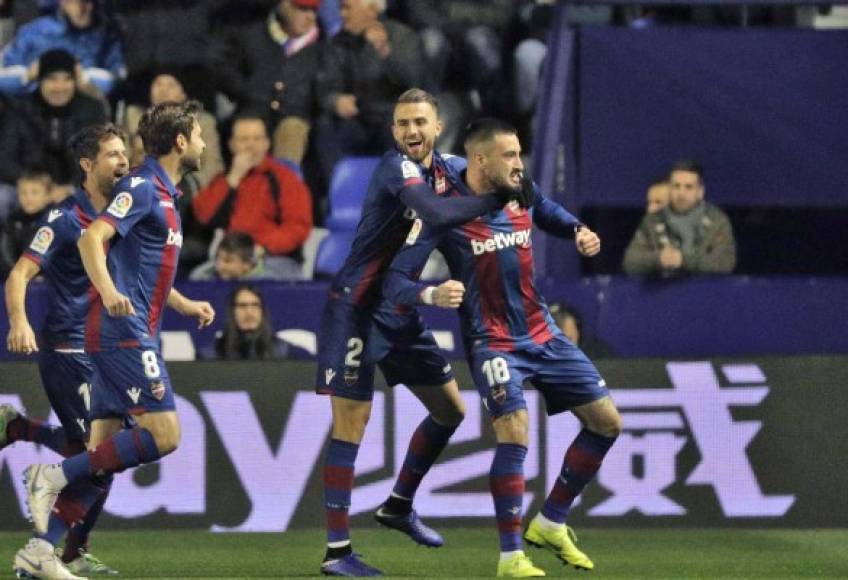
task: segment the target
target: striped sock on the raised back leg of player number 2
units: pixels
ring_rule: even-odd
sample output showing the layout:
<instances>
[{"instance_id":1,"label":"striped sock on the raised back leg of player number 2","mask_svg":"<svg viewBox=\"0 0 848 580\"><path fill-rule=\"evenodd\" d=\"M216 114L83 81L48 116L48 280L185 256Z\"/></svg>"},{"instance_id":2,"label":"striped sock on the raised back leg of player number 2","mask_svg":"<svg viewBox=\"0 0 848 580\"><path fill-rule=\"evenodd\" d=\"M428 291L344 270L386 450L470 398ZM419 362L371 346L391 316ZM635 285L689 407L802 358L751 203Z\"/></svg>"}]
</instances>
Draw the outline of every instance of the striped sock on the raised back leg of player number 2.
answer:
<instances>
[{"instance_id":1,"label":"striped sock on the raised back leg of player number 2","mask_svg":"<svg viewBox=\"0 0 848 580\"><path fill-rule=\"evenodd\" d=\"M403 467L395 482L394 489L392 489L392 497L408 500L411 507L412 498L415 497L415 492L418 491L421 480L427 475L433 463L436 462L436 458L447 446L448 440L456 431L456 427L456 425L450 427L439 425L430 415L421 422L409 441L409 449L406 452L406 458L403 460ZM397 513L398 510L393 509L392 506L388 507L392 513ZM403 508L403 506L397 507Z\"/></svg>"}]
</instances>

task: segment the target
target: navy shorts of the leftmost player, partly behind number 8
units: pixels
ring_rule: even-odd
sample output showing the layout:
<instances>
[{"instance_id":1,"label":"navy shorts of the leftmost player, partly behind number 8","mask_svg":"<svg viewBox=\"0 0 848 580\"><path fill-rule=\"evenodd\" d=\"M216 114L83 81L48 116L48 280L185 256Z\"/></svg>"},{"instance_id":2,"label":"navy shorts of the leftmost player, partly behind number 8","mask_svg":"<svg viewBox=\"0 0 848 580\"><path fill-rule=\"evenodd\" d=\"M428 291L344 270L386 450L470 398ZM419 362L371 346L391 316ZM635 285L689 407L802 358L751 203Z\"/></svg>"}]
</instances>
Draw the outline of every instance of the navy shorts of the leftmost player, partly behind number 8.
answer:
<instances>
[{"instance_id":1,"label":"navy shorts of the leftmost player, partly behind number 8","mask_svg":"<svg viewBox=\"0 0 848 580\"><path fill-rule=\"evenodd\" d=\"M87 441L91 423L91 358L84 352L42 351L41 384L69 441Z\"/></svg>"}]
</instances>

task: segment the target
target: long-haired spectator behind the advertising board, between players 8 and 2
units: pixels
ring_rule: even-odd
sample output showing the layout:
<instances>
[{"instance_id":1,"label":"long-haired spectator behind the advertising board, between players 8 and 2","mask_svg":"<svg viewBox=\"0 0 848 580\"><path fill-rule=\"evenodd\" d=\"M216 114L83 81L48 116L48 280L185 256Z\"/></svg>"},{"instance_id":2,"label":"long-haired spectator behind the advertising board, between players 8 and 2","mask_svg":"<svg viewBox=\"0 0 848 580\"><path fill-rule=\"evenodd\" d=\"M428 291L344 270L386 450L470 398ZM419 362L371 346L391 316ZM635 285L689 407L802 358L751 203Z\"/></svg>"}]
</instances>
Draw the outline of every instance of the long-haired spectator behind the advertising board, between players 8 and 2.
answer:
<instances>
[{"instance_id":1,"label":"long-haired spectator behind the advertising board, between players 8 and 2","mask_svg":"<svg viewBox=\"0 0 848 580\"><path fill-rule=\"evenodd\" d=\"M271 326L271 313L258 288L242 284L230 295L224 332L215 339L221 360L288 358L290 346Z\"/></svg>"}]
</instances>

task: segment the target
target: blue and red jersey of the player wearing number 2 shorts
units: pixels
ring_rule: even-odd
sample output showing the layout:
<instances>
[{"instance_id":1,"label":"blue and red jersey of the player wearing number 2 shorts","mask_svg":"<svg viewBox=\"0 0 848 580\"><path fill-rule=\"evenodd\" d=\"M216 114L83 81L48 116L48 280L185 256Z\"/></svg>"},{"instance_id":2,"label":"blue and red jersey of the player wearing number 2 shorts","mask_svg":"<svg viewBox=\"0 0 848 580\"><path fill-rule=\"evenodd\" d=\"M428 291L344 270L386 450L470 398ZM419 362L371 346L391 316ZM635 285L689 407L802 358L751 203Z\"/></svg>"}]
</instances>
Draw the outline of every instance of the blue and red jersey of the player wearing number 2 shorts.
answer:
<instances>
[{"instance_id":1,"label":"blue and red jersey of the player wearing number 2 shorts","mask_svg":"<svg viewBox=\"0 0 848 580\"><path fill-rule=\"evenodd\" d=\"M350 254L333 280L332 291L354 304L376 306L385 271L417 217L401 201L401 193L423 187L430 195L442 194L464 168L464 159L437 152L429 169L397 150L383 155L371 176Z\"/></svg>"}]
</instances>

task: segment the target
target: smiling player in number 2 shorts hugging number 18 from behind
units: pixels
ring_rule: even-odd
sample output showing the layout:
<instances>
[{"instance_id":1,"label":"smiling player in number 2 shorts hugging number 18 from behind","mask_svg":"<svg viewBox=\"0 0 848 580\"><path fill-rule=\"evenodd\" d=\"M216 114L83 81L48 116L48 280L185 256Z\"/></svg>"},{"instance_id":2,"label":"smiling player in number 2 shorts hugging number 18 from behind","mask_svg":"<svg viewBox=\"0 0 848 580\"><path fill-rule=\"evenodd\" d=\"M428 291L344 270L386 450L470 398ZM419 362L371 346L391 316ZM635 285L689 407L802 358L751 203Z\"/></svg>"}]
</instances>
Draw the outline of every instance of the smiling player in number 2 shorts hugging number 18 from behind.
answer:
<instances>
[{"instance_id":1,"label":"smiling player in number 2 shorts hugging number 18 from behind","mask_svg":"<svg viewBox=\"0 0 848 580\"><path fill-rule=\"evenodd\" d=\"M443 543L421 522L412 501L465 408L451 367L418 312L383 302L383 276L416 217L436 226L463 223L502 207L515 192L454 199L436 195L445 191L448 176L464 166L463 160L434 151L441 130L432 95L410 89L398 98L392 124L397 149L386 153L374 171L350 254L324 308L316 390L331 396L333 413L323 468L327 552L321 571L326 575L380 574L353 553L348 522L354 463L371 413L378 364L389 385L407 385L430 414L415 431L392 494L375 518L419 544Z\"/></svg>"}]
</instances>

